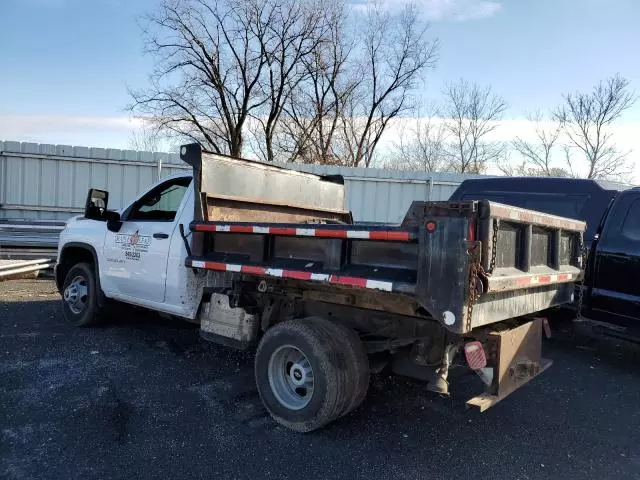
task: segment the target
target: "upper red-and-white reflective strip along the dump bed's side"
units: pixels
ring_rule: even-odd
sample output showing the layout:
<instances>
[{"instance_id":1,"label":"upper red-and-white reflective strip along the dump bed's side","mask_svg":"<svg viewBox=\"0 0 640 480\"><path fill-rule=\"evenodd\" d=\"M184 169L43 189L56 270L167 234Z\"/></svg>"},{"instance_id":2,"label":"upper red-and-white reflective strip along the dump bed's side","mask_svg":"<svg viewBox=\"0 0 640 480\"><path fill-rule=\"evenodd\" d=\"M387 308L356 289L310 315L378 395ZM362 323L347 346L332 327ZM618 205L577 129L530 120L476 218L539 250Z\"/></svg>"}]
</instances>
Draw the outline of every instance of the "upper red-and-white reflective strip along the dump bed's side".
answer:
<instances>
[{"instance_id":1,"label":"upper red-and-white reflective strip along the dump bed's side","mask_svg":"<svg viewBox=\"0 0 640 480\"><path fill-rule=\"evenodd\" d=\"M406 230L352 230L330 228L261 227L257 225L211 225L197 223L195 232L259 233L296 237L355 238L363 240L387 240L409 242L415 237Z\"/></svg>"}]
</instances>

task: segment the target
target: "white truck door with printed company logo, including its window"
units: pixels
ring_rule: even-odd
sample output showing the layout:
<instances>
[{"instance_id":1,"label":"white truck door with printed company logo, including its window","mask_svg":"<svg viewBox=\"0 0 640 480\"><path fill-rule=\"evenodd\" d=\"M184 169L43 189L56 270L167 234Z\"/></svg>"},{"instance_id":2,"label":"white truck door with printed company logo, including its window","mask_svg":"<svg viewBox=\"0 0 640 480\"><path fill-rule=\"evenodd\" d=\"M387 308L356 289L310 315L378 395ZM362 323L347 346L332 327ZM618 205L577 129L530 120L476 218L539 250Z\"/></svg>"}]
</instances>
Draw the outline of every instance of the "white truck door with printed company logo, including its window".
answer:
<instances>
[{"instance_id":1,"label":"white truck door with printed company logo, including its window","mask_svg":"<svg viewBox=\"0 0 640 480\"><path fill-rule=\"evenodd\" d=\"M107 231L100 282L107 296L163 302L171 237L191 178L167 180L122 214L119 232Z\"/></svg>"}]
</instances>

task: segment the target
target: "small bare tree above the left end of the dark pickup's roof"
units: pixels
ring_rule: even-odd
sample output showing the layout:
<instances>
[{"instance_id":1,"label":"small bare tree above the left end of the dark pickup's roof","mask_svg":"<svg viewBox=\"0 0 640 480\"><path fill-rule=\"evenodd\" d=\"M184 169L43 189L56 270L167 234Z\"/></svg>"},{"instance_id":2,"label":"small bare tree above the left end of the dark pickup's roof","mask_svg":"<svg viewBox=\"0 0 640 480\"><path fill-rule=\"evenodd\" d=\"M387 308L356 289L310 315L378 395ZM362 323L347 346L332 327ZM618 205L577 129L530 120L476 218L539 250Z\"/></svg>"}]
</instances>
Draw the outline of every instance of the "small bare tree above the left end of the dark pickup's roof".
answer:
<instances>
[{"instance_id":1,"label":"small bare tree above the left end of the dark pickup's roof","mask_svg":"<svg viewBox=\"0 0 640 480\"><path fill-rule=\"evenodd\" d=\"M497 162L505 153L504 144L486 137L498 127L507 103L490 87L464 79L448 84L444 95L451 165L460 173L481 173L487 163Z\"/></svg>"}]
</instances>

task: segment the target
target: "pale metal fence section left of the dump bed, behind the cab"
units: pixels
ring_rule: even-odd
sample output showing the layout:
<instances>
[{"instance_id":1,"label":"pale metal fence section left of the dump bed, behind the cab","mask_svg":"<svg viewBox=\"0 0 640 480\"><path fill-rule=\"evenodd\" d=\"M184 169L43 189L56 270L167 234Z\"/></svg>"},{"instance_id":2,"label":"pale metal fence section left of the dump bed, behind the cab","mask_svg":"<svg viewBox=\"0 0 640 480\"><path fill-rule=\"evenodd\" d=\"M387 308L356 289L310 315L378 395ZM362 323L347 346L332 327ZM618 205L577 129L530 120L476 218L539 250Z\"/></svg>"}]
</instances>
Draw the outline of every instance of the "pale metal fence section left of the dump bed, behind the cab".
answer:
<instances>
[{"instance_id":1,"label":"pale metal fence section left of the dump bed, behind the cab","mask_svg":"<svg viewBox=\"0 0 640 480\"><path fill-rule=\"evenodd\" d=\"M83 211L90 187L108 190L118 209L159 172L190 170L166 153L0 141L0 219L65 220Z\"/></svg>"}]
</instances>

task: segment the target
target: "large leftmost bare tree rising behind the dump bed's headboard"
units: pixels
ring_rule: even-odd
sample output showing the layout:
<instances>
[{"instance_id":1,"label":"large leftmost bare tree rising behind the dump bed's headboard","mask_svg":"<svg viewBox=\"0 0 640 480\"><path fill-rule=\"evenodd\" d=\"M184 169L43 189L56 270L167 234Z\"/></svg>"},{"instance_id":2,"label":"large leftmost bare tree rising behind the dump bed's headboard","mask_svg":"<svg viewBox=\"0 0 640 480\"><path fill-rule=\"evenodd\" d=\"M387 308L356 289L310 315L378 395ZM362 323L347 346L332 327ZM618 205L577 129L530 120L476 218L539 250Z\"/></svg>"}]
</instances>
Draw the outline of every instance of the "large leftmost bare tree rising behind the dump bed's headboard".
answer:
<instances>
[{"instance_id":1,"label":"large leftmost bare tree rising behind the dump bed's headboard","mask_svg":"<svg viewBox=\"0 0 640 480\"><path fill-rule=\"evenodd\" d=\"M236 157L253 117L273 160L271 137L322 10L304 0L164 0L146 20L156 66L150 87L131 92L130 109L158 131Z\"/></svg>"}]
</instances>

